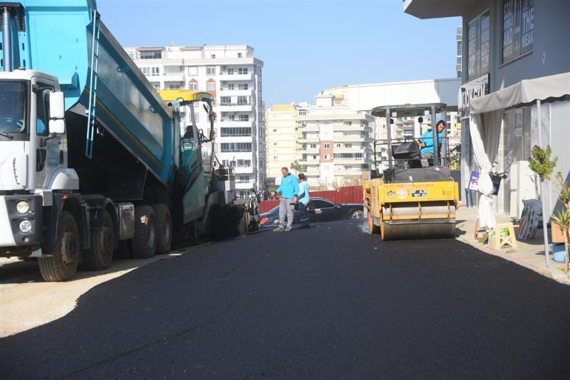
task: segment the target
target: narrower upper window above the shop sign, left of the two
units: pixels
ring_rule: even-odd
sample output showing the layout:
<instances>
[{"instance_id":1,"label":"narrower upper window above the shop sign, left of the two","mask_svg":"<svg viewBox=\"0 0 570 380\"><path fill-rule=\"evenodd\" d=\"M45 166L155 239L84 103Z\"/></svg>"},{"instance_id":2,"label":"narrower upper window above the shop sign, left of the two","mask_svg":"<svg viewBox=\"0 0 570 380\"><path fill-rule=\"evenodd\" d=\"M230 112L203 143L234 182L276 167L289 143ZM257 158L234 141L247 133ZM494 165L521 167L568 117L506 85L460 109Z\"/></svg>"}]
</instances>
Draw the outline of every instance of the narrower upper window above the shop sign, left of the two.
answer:
<instances>
[{"instance_id":1,"label":"narrower upper window above the shop sign, left of the two","mask_svg":"<svg viewBox=\"0 0 570 380\"><path fill-rule=\"evenodd\" d=\"M489 12L467 24L467 76L471 80L489 72Z\"/></svg>"}]
</instances>

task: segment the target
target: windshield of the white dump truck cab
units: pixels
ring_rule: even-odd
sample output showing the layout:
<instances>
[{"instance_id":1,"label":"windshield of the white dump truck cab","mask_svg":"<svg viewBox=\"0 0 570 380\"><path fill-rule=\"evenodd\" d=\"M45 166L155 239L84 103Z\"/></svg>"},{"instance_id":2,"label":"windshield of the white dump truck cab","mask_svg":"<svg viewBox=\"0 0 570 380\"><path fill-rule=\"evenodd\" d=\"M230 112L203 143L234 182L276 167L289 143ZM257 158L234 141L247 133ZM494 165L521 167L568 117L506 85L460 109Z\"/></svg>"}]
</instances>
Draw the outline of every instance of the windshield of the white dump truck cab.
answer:
<instances>
[{"instance_id":1,"label":"windshield of the white dump truck cab","mask_svg":"<svg viewBox=\"0 0 570 380\"><path fill-rule=\"evenodd\" d=\"M27 134L26 82L16 80L0 81L0 132L1 136L21 137ZM2 139L2 137L0 137Z\"/></svg>"}]
</instances>

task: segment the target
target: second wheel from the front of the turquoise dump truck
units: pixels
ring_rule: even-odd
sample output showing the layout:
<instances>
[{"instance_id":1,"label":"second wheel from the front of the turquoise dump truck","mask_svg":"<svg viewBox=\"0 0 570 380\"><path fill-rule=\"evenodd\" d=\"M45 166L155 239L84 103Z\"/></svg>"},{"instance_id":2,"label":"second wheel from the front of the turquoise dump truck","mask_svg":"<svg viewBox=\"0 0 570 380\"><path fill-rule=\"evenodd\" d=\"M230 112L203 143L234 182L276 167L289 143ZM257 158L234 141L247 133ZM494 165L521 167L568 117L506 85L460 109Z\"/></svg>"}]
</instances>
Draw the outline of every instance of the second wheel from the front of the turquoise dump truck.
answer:
<instances>
[{"instance_id":1,"label":"second wheel from the front of the turquoise dump truck","mask_svg":"<svg viewBox=\"0 0 570 380\"><path fill-rule=\"evenodd\" d=\"M113 261L114 249L115 229L113 228L113 218L111 218L109 211L103 210L100 226L91 235L91 249L86 250L81 268L86 270L109 268L111 261Z\"/></svg>"}]
</instances>

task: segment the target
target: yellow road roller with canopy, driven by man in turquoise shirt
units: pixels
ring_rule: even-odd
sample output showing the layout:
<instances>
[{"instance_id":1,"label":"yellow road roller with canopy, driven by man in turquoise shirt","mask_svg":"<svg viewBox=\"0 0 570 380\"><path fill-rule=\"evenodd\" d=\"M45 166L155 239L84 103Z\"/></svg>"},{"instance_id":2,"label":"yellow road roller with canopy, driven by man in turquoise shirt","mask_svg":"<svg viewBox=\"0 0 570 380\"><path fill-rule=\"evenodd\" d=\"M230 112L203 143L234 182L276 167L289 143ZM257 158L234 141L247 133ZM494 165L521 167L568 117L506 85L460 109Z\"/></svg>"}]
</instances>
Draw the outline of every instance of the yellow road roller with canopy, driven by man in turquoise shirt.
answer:
<instances>
[{"instance_id":1,"label":"yellow road roller with canopy, driven by man in turquoise shirt","mask_svg":"<svg viewBox=\"0 0 570 380\"><path fill-rule=\"evenodd\" d=\"M374 141L374 164L364 181L368 230L382 240L454 238L459 186L448 167L447 127L439 135L421 134L424 119L437 130L436 115L446 120L443 103L375 107L385 117L387 138ZM429 116L428 116L429 115ZM393 133L398 119L405 126ZM428 129L431 127L425 125ZM432 157L420 145L431 139Z\"/></svg>"}]
</instances>

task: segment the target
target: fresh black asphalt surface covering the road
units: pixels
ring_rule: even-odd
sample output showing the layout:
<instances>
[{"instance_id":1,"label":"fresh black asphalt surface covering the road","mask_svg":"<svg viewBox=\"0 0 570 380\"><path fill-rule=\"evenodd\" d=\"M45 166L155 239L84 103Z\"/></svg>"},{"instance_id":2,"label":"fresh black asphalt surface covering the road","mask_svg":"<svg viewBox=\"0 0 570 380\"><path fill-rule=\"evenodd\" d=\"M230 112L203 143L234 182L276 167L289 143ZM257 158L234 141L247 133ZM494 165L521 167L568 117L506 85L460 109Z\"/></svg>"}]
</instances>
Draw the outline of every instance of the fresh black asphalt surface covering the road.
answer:
<instances>
[{"instance_id":1,"label":"fresh black asphalt surface covering the road","mask_svg":"<svg viewBox=\"0 0 570 380\"><path fill-rule=\"evenodd\" d=\"M570 287L366 221L160 260L0 340L2 379L570 379ZM33 315L29 316L33 318Z\"/></svg>"}]
</instances>

